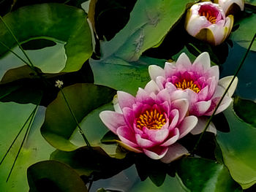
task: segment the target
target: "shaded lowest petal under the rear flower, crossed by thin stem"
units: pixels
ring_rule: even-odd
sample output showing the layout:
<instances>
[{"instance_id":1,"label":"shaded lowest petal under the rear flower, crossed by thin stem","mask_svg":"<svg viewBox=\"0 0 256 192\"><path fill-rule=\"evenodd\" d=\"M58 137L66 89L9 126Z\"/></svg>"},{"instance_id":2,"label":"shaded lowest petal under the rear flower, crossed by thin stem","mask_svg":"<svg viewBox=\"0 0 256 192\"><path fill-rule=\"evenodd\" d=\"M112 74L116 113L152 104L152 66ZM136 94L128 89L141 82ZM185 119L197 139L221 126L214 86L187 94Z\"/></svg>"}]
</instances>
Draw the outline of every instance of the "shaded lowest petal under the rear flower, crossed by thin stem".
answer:
<instances>
[{"instance_id":1,"label":"shaded lowest petal under the rear flower, crossed by thin stem","mask_svg":"<svg viewBox=\"0 0 256 192\"><path fill-rule=\"evenodd\" d=\"M190 131L190 133L191 134L200 134L200 133L202 133L203 129L206 127L207 121L208 121L208 118L199 117L197 125L195 126L195 128L192 129L192 131ZM210 123L210 125L208 126L206 131L217 134L217 130L214 126L214 123L212 123L212 122Z\"/></svg>"}]
</instances>

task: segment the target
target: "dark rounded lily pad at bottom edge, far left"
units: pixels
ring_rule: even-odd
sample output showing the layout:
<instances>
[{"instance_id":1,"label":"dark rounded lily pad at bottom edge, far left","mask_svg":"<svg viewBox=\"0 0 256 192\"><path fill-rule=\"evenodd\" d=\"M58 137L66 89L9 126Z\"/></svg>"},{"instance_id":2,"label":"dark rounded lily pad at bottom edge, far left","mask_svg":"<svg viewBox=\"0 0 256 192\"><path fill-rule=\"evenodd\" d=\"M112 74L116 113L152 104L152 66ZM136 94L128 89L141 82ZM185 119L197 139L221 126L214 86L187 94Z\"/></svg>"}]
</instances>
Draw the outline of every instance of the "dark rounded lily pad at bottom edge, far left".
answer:
<instances>
[{"instance_id":1,"label":"dark rounded lily pad at bottom edge, far left","mask_svg":"<svg viewBox=\"0 0 256 192\"><path fill-rule=\"evenodd\" d=\"M30 191L86 192L79 174L59 161L41 161L28 169Z\"/></svg>"}]
</instances>

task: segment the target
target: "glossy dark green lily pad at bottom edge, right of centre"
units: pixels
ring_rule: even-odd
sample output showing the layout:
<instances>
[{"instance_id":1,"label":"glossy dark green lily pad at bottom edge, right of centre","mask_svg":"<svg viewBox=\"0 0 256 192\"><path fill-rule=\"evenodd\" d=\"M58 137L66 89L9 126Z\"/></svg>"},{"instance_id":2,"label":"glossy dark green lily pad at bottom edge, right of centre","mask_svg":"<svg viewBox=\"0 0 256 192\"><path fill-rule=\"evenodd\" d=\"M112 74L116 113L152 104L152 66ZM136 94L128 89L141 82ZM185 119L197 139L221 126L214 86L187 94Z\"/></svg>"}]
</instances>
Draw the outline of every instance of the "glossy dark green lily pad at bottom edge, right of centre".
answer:
<instances>
[{"instance_id":1,"label":"glossy dark green lily pad at bottom edge, right of centre","mask_svg":"<svg viewBox=\"0 0 256 192\"><path fill-rule=\"evenodd\" d=\"M228 169L204 158L183 158L178 166L178 177L189 191L241 191Z\"/></svg>"}]
</instances>

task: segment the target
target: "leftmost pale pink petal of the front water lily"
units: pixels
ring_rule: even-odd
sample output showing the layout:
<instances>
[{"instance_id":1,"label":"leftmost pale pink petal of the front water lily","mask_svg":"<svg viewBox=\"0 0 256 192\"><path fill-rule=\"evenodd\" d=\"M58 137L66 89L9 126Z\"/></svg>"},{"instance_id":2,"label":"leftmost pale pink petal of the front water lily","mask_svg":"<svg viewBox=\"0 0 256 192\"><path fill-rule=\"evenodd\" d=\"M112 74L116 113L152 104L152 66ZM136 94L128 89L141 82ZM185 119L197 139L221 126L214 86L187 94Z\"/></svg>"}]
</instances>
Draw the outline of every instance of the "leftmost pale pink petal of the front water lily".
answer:
<instances>
[{"instance_id":1,"label":"leftmost pale pink petal of the front water lily","mask_svg":"<svg viewBox=\"0 0 256 192\"><path fill-rule=\"evenodd\" d=\"M102 111L99 113L99 118L114 134L116 134L116 129L118 127L126 125L124 115L118 112Z\"/></svg>"}]
</instances>

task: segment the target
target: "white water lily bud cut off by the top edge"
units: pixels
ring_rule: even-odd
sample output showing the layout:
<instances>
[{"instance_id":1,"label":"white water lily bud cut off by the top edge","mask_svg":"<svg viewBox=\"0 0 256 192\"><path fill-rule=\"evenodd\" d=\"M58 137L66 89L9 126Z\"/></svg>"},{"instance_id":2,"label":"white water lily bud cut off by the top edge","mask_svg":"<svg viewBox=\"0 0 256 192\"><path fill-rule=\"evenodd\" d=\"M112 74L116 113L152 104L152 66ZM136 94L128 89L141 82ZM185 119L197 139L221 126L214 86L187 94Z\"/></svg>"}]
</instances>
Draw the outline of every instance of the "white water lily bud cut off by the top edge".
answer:
<instances>
[{"instance_id":1,"label":"white water lily bud cut off by the top edge","mask_svg":"<svg viewBox=\"0 0 256 192\"><path fill-rule=\"evenodd\" d=\"M214 0L214 3L219 4L226 15L244 10L244 0Z\"/></svg>"}]
</instances>

